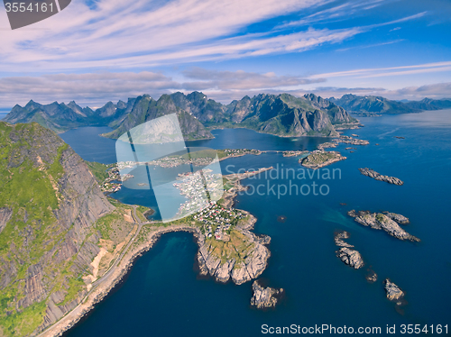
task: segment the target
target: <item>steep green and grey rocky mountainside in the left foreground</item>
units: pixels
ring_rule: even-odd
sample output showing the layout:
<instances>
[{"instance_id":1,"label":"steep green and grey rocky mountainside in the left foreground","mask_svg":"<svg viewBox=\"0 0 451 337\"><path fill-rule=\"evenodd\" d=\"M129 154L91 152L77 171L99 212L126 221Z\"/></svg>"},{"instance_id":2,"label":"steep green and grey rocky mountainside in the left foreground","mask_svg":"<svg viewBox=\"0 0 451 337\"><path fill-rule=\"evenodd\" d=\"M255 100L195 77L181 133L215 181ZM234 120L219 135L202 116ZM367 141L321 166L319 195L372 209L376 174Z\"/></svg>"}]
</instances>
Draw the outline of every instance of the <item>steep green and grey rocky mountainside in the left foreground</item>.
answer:
<instances>
[{"instance_id":1,"label":"steep green and grey rocky mountainside in the left foreground","mask_svg":"<svg viewBox=\"0 0 451 337\"><path fill-rule=\"evenodd\" d=\"M0 123L0 329L28 335L85 293L97 219L114 210L85 162L37 123Z\"/></svg>"}]
</instances>

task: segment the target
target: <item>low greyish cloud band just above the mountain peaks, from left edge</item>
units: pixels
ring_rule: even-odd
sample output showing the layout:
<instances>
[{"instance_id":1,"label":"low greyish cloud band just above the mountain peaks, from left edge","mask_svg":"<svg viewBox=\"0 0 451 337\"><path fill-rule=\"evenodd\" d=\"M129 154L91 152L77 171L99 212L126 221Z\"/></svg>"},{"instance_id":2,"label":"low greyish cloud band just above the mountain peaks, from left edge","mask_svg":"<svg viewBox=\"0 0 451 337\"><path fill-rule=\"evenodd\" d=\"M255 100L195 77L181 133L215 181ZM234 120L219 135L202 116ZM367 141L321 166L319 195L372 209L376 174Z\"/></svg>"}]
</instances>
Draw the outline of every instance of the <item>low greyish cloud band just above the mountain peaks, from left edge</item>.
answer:
<instances>
[{"instance_id":1,"label":"low greyish cloud band just above the mountain peaks, from left edge","mask_svg":"<svg viewBox=\"0 0 451 337\"><path fill-rule=\"evenodd\" d=\"M182 72L179 81L161 73L143 71L101 72L86 74L53 74L39 77L0 78L0 108L24 105L30 99L41 103L75 100L82 105L98 106L107 101L150 94L159 97L174 91L194 90L214 93L219 99L324 82L324 78L307 79L277 76L274 73L255 73L243 70L216 71L190 68ZM281 89L280 89L281 90ZM218 94L222 93L222 94ZM243 95L243 96L244 96ZM242 96L241 96L242 97ZM241 98L239 97L239 98ZM228 103L228 102L227 102Z\"/></svg>"}]
</instances>

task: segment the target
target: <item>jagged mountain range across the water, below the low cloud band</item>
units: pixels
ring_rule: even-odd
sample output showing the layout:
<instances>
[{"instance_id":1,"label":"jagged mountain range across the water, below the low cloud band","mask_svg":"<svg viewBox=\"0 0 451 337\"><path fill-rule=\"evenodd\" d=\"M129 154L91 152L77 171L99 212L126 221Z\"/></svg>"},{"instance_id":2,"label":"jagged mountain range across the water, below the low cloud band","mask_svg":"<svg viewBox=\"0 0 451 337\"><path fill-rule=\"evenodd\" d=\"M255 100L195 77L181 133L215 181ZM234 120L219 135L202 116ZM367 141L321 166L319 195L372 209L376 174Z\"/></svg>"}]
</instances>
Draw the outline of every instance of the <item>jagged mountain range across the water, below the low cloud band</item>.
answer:
<instances>
[{"instance_id":1,"label":"jagged mountain range across the water, below the low cloud band","mask_svg":"<svg viewBox=\"0 0 451 337\"><path fill-rule=\"evenodd\" d=\"M336 125L343 128L357 123L342 107L313 94L302 97L260 94L223 105L200 92L189 95L178 92L158 100L143 95L129 98L127 103L108 102L97 110L82 108L73 101L68 105L30 101L23 107L15 105L4 121L37 122L55 132L87 125L109 126L114 131L104 136L117 139L136 125L174 113L186 140L213 138L208 127L245 127L280 136L336 136Z\"/></svg>"}]
</instances>

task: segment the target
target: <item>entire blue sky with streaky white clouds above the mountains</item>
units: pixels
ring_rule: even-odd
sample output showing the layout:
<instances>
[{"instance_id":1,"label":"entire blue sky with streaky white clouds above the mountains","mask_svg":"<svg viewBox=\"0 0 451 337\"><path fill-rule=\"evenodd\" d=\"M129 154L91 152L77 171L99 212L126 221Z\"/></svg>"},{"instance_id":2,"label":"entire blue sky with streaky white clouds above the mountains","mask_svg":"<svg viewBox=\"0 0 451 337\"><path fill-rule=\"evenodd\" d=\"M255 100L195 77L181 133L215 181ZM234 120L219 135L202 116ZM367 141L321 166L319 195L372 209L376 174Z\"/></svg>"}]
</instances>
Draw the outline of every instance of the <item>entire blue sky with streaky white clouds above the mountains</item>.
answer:
<instances>
[{"instance_id":1,"label":"entire blue sky with streaky white clouds above the mountains","mask_svg":"<svg viewBox=\"0 0 451 337\"><path fill-rule=\"evenodd\" d=\"M193 90L451 97L449 0L72 0L11 31L0 109Z\"/></svg>"}]
</instances>

